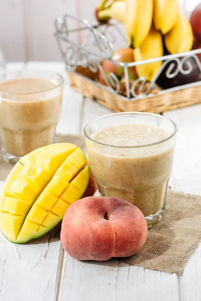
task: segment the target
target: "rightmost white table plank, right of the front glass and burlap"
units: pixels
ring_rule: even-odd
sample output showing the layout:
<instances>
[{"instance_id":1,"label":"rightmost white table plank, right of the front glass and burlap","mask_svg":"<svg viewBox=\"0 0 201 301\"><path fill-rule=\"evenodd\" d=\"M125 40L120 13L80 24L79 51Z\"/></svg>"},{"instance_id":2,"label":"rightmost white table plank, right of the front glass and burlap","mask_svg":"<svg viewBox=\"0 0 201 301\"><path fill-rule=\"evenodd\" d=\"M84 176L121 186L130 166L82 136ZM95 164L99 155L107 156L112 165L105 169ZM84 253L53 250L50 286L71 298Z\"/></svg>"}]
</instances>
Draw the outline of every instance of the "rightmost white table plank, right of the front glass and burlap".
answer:
<instances>
[{"instance_id":1,"label":"rightmost white table plank, right of the front glass and burlap","mask_svg":"<svg viewBox=\"0 0 201 301\"><path fill-rule=\"evenodd\" d=\"M171 188L201 195L201 104L165 112L178 126ZM182 301L201 300L201 244L178 277Z\"/></svg>"}]
</instances>

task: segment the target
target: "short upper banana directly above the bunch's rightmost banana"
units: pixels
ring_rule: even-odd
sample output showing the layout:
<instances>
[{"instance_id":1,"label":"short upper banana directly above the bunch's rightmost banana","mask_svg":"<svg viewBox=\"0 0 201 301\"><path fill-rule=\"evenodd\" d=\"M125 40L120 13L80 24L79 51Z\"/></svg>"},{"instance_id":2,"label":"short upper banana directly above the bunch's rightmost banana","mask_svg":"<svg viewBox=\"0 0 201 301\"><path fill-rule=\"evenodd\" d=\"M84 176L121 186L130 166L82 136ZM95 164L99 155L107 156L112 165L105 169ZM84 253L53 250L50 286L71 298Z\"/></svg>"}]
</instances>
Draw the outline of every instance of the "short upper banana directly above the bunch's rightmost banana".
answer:
<instances>
[{"instance_id":1,"label":"short upper banana directly above the bunch's rightmost banana","mask_svg":"<svg viewBox=\"0 0 201 301\"><path fill-rule=\"evenodd\" d=\"M154 27L163 35L173 28L178 17L179 0L154 0Z\"/></svg>"}]
</instances>

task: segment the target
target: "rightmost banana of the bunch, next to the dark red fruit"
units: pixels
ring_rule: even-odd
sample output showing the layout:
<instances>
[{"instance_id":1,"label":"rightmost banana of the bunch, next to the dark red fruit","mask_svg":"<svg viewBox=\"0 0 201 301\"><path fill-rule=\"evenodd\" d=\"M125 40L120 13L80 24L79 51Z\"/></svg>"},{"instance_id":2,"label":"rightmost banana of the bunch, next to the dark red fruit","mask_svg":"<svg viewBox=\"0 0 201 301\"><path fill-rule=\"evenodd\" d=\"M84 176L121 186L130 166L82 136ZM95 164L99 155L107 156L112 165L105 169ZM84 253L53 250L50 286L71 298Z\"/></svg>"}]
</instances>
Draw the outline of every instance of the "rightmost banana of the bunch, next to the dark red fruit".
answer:
<instances>
[{"instance_id":1,"label":"rightmost banana of the bunch, next to the dark red fruit","mask_svg":"<svg viewBox=\"0 0 201 301\"><path fill-rule=\"evenodd\" d=\"M193 33L190 22L180 13L174 27L164 36L165 46L169 53L175 54L192 49Z\"/></svg>"}]
</instances>

